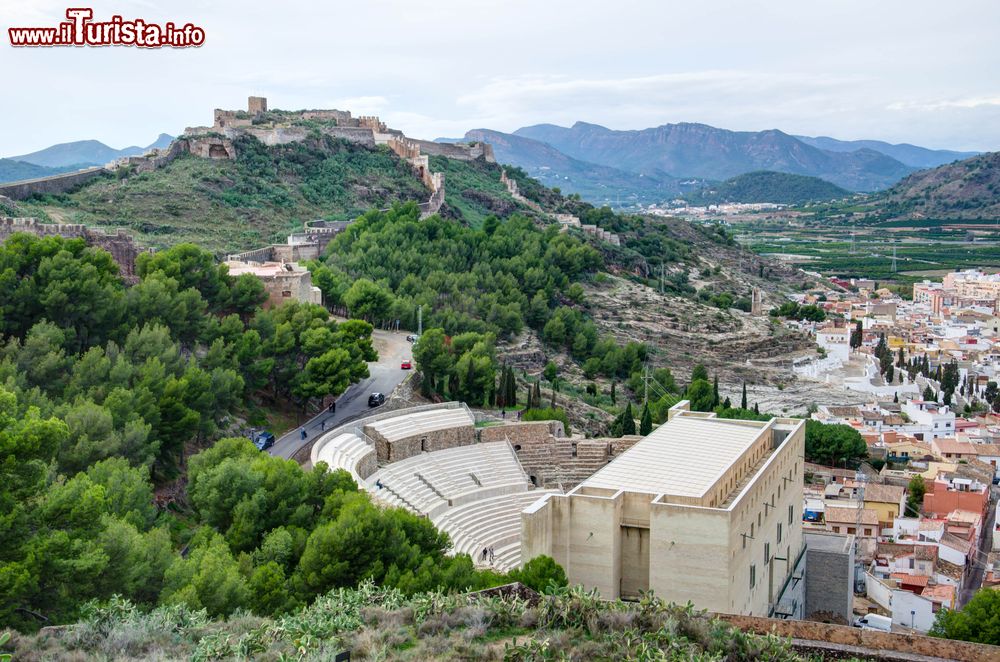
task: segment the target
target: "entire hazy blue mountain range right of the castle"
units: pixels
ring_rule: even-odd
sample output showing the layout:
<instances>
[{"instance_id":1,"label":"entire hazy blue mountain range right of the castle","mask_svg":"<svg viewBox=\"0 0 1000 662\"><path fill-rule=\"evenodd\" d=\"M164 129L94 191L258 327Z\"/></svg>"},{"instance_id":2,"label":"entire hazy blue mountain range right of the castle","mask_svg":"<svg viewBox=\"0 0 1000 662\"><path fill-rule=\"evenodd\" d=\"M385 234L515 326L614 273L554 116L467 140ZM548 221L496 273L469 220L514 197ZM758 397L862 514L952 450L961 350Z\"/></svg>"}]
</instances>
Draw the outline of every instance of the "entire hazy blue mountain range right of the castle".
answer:
<instances>
[{"instance_id":1,"label":"entire hazy blue mountain range right of the castle","mask_svg":"<svg viewBox=\"0 0 1000 662\"><path fill-rule=\"evenodd\" d=\"M538 124L513 133L475 129L462 140L491 142L500 162L597 203L662 202L669 198L656 198L689 194L706 183L760 171L818 177L848 191L871 192L887 189L918 169L975 155L878 140L793 136L776 129L729 131L694 123L631 131L586 122L571 127ZM782 180L771 178L770 183L778 181Z\"/></svg>"}]
</instances>

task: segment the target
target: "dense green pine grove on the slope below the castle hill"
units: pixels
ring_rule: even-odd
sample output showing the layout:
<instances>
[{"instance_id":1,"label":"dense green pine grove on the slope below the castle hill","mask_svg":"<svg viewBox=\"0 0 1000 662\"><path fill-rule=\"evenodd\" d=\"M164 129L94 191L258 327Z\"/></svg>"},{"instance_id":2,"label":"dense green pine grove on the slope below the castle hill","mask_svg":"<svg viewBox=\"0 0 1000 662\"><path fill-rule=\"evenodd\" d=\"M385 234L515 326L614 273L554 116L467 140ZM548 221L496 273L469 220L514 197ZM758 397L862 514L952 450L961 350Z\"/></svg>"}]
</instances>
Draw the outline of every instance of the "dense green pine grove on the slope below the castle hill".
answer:
<instances>
[{"instance_id":1,"label":"dense green pine grove on the slope below the castle hill","mask_svg":"<svg viewBox=\"0 0 1000 662\"><path fill-rule=\"evenodd\" d=\"M311 267L327 304L408 329L422 306L425 327L510 336L542 328L557 296L601 265L591 246L527 218L474 230L419 216L412 204L371 211L337 236Z\"/></svg>"}]
</instances>

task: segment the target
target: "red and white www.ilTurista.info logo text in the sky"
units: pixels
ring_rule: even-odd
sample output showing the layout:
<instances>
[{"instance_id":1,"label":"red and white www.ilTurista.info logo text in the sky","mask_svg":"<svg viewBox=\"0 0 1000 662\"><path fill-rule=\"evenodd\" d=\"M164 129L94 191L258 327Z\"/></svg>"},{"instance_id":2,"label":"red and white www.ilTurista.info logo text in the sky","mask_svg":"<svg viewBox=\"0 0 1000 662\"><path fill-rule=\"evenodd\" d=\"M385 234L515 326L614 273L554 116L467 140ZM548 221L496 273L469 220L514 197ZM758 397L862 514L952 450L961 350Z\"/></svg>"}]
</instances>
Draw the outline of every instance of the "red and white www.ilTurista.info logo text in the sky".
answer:
<instances>
[{"instance_id":1,"label":"red and white www.ilTurista.info logo text in the sky","mask_svg":"<svg viewBox=\"0 0 1000 662\"><path fill-rule=\"evenodd\" d=\"M135 46L138 48L197 48L205 30L191 23L153 23L141 18L112 16L95 21L94 10L71 7L67 20L54 27L7 28L11 46Z\"/></svg>"}]
</instances>

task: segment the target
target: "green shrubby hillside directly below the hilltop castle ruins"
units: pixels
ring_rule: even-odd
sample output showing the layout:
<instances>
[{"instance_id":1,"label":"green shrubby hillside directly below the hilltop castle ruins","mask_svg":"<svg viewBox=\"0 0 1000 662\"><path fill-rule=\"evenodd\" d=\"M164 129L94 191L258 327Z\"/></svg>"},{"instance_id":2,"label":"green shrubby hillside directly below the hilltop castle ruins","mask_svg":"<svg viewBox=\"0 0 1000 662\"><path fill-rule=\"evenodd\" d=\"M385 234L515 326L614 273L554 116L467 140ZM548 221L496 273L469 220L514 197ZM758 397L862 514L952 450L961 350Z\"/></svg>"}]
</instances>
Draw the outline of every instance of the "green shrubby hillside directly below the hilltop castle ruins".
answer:
<instances>
[{"instance_id":1,"label":"green shrubby hillside directly below the hilltop castle ruins","mask_svg":"<svg viewBox=\"0 0 1000 662\"><path fill-rule=\"evenodd\" d=\"M124 227L156 248L195 242L221 255L283 240L316 218L354 218L372 207L423 201L412 168L387 149L330 137L266 147L244 136L234 161L190 155L140 175L20 203L19 214Z\"/></svg>"}]
</instances>

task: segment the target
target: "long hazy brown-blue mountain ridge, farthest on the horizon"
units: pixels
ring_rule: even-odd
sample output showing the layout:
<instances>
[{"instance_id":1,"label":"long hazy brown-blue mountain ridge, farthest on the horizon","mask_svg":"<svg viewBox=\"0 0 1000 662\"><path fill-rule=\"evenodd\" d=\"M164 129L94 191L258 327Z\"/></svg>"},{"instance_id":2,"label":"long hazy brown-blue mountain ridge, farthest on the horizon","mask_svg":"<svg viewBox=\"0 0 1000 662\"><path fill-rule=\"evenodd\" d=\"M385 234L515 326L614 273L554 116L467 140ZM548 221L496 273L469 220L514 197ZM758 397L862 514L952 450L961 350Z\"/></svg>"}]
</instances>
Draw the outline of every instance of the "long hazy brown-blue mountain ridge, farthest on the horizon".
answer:
<instances>
[{"instance_id":1,"label":"long hazy brown-blue mountain ridge, farthest on the horizon","mask_svg":"<svg viewBox=\"0 0 1000 662\"><path fill-rule=\"evenodd\" d=\"M728 131L705 124L664 124L614 131L577 122L539 124L514 135L552 145L573 158L641 174L728 179L756 170L820 177L852 191L887 188L913 168L871 149L833 152L776 129Z\"/></svg>"}]
</instances>

